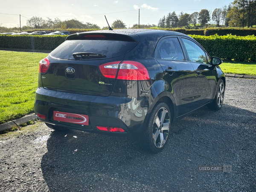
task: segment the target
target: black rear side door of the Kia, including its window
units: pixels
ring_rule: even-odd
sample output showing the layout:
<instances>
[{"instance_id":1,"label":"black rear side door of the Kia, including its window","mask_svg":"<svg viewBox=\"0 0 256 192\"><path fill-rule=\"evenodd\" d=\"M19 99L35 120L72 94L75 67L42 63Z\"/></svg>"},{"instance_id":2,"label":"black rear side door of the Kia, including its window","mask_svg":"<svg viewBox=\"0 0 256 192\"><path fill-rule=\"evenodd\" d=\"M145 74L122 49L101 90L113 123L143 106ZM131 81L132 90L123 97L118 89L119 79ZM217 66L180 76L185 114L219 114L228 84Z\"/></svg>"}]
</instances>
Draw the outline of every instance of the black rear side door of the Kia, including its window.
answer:
<instances>
[{"instance_id":1,"label":"black rear side door of the Kia, including its window","mask_svg":"<svg viewBox=\"0 0 256 192\"><path fill-rule=\"evenodd\" d=\"M168 91L174 96L177 117L192 111L195 71L177 36L163 38L155 49L155 58L162 66Z\"/></svg>"}]
</instances>

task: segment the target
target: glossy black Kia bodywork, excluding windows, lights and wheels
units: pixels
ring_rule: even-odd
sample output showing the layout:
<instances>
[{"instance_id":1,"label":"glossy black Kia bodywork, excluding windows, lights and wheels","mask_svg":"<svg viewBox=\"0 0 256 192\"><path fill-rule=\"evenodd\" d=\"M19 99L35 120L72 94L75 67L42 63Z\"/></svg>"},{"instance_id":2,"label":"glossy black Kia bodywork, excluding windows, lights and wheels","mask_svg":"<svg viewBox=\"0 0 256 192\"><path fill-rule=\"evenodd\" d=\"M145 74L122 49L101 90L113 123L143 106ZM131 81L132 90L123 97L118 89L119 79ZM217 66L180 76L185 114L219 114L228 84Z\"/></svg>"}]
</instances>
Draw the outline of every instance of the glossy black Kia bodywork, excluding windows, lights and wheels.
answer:
<instances>
[{"instance_id":1,"label":"glossy black Kia bodywork, excluding windows, lights and wheels","mask_svg":"<svg viewBox=\"0 0 256 192\"><path fill-rule=\"evenodd\" d=\"M42 121L99 134L137 135L143 130L144 122L148 121L157 102L168 103L173 123L212 102L219 79L225 82L225 75L219 66L211 65L209 61L203 64L189 60L181 37L198 43L182 33L145 29L103 30L73 34L68 36L67 41L81 40L85 34L107 33L127 35L137 44L115 58L69 60L55 58L52 53L48 56L51 64L47 73L39 73L35 94L35 112L46 116ZM165 38L178 39L184 53L183 61L156 58L155 50ZM98 66L111 61L140 62L147 68L150 80L107 79L102 76ZM67 67L76 70L75 77L67 76ZM172 73L172 70L175 72ZM99 84L99 81L105 84ZM89 125L82 127L54 121L53 111L88 115ZM97 125L116 126L125 132L99 131Z\"/></svg>"}]
</instances>

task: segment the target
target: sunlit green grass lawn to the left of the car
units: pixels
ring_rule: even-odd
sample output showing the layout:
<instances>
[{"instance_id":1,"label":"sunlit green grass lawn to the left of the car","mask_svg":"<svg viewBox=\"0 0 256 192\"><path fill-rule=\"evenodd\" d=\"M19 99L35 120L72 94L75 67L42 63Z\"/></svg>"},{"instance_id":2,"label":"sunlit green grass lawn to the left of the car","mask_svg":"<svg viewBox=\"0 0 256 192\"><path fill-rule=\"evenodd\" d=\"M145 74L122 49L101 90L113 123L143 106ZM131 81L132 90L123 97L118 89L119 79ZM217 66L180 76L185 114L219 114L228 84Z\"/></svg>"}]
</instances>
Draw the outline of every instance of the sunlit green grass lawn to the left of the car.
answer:
<instances>
[{"instance_id":1,"label":"sunlit green grass lawn to the left of the car","mask_svg":"<svg viewBox=\"0 0 256 192\"><path fill-rule=\"evenodd\" d=\"M39 61L47 55L0 51L0 123L33 111Z\"/></svg>"}]
</instances>

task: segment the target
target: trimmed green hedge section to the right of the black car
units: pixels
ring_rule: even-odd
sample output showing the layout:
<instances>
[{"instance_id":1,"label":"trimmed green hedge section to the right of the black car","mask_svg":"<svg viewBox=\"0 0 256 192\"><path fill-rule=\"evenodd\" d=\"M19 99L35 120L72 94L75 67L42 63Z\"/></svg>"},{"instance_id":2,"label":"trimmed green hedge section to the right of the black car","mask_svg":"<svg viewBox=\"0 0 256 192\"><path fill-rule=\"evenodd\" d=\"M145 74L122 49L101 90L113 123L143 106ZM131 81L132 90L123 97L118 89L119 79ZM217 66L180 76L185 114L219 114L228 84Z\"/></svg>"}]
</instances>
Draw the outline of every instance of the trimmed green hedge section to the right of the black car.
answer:
<instances>
[{"instance_id":1,"label":"trimmed green hedge section to the right of the black car","mask_svg":"<svg viewBox=\"0 0 256 192\"><path fill-rule=\"evenodd\" d=\"M198 41L211 56L230 61L256 61L256 36L189 35Z\"/></svg>"}]
</instances>

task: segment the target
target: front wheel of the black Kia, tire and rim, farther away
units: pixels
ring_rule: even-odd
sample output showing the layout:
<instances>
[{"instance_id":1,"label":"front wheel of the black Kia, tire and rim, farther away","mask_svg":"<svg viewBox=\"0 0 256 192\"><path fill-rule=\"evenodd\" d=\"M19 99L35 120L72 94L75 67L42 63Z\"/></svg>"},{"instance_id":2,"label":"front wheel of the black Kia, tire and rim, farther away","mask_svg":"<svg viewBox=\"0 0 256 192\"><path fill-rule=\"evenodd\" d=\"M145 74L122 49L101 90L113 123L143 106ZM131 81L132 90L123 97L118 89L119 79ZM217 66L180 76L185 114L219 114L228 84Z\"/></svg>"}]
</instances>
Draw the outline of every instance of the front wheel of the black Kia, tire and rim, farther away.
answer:
<instances>
[{"instance_id":1,"label":"front wheel of the black Kia, tire and rim, farther away","mask_svg":"<svg viewBox=\"0 0 256 192\"><path fill-rule=\"evenodd\" d=\"M215 98L208 105L208 108L210 110L217 111L217 110L220 110L222 108L223 101L224 101L224 93L225 93L225 84L224 84L223 79L221 79L218 82L218 85L217 85L217 90L216 90Z\"/></svg>"}]
</instances>

